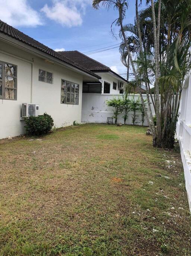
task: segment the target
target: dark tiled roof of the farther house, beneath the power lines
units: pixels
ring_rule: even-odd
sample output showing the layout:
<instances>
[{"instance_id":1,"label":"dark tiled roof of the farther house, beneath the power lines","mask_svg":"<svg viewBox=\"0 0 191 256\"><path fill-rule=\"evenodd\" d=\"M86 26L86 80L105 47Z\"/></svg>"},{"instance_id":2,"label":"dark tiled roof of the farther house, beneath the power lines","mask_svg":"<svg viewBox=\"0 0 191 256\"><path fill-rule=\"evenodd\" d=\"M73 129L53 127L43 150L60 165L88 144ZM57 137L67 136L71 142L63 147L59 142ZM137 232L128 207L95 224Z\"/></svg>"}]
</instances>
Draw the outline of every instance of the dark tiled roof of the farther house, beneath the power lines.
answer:
<instances>
[{"instance_id":1,"label":"dark tiled roof of the farther house, beneath the power lines","mask_svg":"<svg viewBox=\"0 0 191 256\"><path fill-rule=\"evenodd\" d=\"M104 64L98 62L97 60L94 60L87 55L79 52L79 51L64 51L59 52L59 54L62 54L64 57L67 57L76 63L80 64L81 66L85 67L86 69L89 69L92 72L98 73L98 72L111 72L115 76L118 76L118 78L122 79L126 82L126 80L115 73L113 70L110 69L110 67L105 66Z\"/></svg>"}]
</instances>

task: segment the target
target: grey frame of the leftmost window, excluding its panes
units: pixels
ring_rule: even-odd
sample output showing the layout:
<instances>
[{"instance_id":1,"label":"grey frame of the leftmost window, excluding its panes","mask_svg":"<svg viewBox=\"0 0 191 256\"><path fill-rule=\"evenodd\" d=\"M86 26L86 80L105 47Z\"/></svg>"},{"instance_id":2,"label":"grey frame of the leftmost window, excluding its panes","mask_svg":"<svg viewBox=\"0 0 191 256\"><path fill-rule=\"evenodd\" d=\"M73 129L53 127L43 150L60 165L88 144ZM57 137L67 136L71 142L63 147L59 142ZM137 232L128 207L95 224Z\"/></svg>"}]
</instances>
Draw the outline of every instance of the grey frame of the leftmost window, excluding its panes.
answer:
<instances>
[{"instance_id":1,"label":"grey frame of the leftmost window, excluding its panes","mask_svg":"<svg viewBox=\"0 0 191 256\"><path fill-rule=\"evenodd\" d=\"M16 87L12 88L13 90L15 90L15 99L6 99L5 97L5 89L8 88L8 89L11 89L10 87L6 87L5 86L5 77L6 77L6 74L5 74L5 64L7 65L12 65L14 67L16 67L16 76L10 76L12 78L15 78L16 79ZM12 64L12 63L9 63L9 62L6 62L6 61L1 61L0 60L0 65L2 65L2 79L0 79L0 81L2 81L2 96L0 95L0 100L17 100L17 89L18 89L18 76L17 76L17 70L18 70L18 66L15 65L15 64ZM8 76L8 75L7 75Z\"/></svg>"}]
</instances>

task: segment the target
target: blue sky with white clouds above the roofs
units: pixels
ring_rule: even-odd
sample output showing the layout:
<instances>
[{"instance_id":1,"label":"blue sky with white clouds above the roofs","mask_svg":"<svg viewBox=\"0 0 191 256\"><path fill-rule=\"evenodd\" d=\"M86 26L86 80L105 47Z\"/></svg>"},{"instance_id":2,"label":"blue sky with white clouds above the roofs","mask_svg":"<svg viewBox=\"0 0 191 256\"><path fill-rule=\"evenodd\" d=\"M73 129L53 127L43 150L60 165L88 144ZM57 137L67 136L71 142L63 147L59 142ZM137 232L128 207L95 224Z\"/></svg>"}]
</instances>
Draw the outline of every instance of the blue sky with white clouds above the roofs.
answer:
<instances>
[{"instance_id":1,"label":"blue sky with white clouds above the roofs","mask_svg":"<svg viewBox=\"0 0 191 256\"><path fill-rule=\"evenodd\" d=\"M118 16L116 10L94 10L91 0L0 0L0 5L0 19L52 49L79 50L88 55L88 51L120 43L110 32ZM135 0L130 0L124 24L133 23L134 16ZM118 28L114 31L118 35ZM118 48L88 56L119 74L126 73Z\"/></svg>"}]
</instances>

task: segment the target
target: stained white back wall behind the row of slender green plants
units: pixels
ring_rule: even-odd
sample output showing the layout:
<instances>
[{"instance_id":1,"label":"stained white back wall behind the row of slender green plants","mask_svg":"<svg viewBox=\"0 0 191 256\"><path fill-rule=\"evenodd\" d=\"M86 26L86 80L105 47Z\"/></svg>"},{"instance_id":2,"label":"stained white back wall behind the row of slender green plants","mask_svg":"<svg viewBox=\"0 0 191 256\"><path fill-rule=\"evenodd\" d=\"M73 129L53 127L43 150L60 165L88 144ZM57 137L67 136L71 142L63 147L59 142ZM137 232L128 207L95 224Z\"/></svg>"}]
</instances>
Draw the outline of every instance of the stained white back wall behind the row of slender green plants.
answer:
<instances>
[{"instance_id":1,"label":"stained white back wall behind the row of slender green plants","mask_svg":"<svg viewBox=\"0 0 191 256\"><path fill-rule=\"evenodd\" d=\"M97 93L82 93L82 122L85 123L106 123L107 117L113 116L113 108L106 105L106 100L110 100L116 97L123 97L122 94L97 94ZM131 98L132 95L129 95ZM138 99L139 94L134 95L135 100ZM143 94L143 98L146 99L146 94ZM154 108L151 104L151 109L153 114ZM141 120L141 113L137 112L137 121ZM122 118L123 113L118 116L118 123L124 123ZM115 122L115 119L113 119ZM128 119L126 124L132 124L132 112L129 111ZM142 122L137 123L137 125L142 125ZM147 126L147 120L145 118L144 125Z\"/></svg>"}]
</instances>

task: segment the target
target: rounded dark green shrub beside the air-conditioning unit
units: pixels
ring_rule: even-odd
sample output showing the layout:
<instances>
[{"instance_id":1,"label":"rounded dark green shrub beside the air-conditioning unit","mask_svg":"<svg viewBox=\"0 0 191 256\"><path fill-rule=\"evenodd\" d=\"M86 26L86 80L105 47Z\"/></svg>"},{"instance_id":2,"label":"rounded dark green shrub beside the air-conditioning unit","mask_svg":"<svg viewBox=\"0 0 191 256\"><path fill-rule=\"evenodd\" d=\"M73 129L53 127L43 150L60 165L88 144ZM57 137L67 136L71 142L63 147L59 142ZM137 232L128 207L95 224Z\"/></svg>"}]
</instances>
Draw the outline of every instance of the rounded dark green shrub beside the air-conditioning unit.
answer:
<instances>
[{"instance_id":1,"label":"rounded dark green shrub beside the air-conditioning unit","mask_svg":"<svg viewBox=\"0 0 191 256\"><path fill-rule=\"evenodd\" d=\"M25 118L26 133L28 135L43 135L49 132L54 123L50 115L44 113L44 115L38 115L38 117Z\"/></svg>"}]
</instances>

